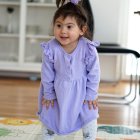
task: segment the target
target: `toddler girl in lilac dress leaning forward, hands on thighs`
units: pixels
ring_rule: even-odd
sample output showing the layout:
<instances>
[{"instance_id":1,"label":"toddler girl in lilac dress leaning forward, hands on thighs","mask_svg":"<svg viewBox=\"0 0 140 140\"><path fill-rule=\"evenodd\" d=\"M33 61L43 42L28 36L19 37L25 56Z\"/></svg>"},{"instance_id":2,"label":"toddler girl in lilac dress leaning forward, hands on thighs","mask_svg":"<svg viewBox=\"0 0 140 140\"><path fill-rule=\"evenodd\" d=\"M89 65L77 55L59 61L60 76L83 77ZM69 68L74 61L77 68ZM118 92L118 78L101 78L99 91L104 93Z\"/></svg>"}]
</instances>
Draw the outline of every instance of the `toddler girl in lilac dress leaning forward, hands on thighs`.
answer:
<instances>
[{"instance_id":1,"label":"toddler girl in lilac dress leaning forward, hands on thighs","mask_svg":"<svg viewBox=\"0 0 140 140\"><path fill-rule=\"evenodd\" d=\"M84 36L87 16L71 1L56 11L55 38L43 48L39 118L43 140L66 135L82 128L84 140L95 140L98 118L99 59L96 46Z\"/></svg>"}]
</instances>

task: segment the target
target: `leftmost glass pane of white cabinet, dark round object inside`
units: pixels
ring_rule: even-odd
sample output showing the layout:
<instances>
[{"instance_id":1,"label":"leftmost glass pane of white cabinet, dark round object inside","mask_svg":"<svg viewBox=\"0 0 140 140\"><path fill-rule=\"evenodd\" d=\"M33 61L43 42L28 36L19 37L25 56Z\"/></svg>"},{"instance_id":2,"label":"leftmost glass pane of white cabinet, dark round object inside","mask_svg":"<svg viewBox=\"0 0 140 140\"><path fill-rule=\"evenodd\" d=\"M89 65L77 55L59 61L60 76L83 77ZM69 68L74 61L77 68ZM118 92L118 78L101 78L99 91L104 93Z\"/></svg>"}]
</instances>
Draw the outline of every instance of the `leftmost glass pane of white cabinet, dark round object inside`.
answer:
<instances>
[{"instance_id":1,"label":"leftmost glass pane of white cabinet, dark round object inside","mask_svg":"<svg viewBox=\"0 0 140 140\"><path fill-rule=\"evenodd\" d=\"M19 14L19 2L0 1L0 62L2 63L18 62Z\"/></svg>"}]
</instances>

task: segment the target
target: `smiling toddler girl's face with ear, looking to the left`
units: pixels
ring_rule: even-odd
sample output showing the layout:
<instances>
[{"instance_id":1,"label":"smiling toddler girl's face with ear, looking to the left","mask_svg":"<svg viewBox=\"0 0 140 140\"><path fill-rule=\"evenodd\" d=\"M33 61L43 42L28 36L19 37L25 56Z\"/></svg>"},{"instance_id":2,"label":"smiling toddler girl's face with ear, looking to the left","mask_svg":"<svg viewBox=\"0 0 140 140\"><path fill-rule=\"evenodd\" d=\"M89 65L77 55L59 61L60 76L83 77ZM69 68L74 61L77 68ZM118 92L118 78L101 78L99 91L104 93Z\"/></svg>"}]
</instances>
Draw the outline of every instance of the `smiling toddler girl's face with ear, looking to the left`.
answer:
<instances>
[{"instance_id":1,"label":"smiling toddler girl's face with ear, looking to the left","mask_svg":"<svg viewBox=\"0 0 140 140\"><path fill-rule=\"evenodd\" d=\"M54 36L60 42L62 47L75 47L77 45L79 36L82 36L82 31L74 17L66 17L63 19L59 17L54 23Z\"/></svg>"}]
</instances>

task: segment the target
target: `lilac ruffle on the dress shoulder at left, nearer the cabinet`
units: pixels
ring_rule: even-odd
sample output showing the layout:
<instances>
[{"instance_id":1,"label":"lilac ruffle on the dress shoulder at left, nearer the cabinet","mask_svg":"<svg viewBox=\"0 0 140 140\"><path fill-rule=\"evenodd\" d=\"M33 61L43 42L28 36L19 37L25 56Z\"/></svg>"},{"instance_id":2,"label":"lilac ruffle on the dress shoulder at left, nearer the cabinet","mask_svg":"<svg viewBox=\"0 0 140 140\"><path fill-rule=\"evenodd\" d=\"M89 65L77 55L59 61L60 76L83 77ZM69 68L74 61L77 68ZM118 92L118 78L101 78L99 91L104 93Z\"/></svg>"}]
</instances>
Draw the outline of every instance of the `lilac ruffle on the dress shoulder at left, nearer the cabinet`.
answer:
<instances>
[{"instance_id":1,"label":"lilac ruffle on the dress shoulder at left, nearer the cabinet","mask_svg":"<svg viewBox=\"0 0 140 140\"><path fill-rule=\"evenodd\" d=\"M43 49L43 54L46 56L49 62L54 63L53 51L48 42L40 43L41 48Z\"/></svg>"}]
</instances>

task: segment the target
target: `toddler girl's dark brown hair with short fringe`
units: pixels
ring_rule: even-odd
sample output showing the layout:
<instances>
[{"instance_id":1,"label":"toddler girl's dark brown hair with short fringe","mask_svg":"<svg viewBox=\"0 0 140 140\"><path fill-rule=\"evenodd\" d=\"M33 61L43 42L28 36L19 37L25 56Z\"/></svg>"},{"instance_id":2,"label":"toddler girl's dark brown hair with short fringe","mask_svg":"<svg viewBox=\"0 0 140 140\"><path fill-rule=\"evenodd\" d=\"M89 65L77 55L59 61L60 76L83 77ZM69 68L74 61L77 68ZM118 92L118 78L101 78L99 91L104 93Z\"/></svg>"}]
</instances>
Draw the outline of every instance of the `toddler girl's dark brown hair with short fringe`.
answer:
<instances>
[{"instance_id":1,"label":"toddler girl's dark brown hair with short fringe","mask_svg":"<svg viewBox=\"0 0 140 140\"><path fill-rule=\"evenodd\" d=\"M75 5L71 2L68 2L64 5L62 4L62 6L60 6L54 14L53 24L55 23L57 18L62 17L65 19L67 16L74 17L81 30L84 26L86 26L87 31L85 32L84 36L92 40L87 26L88 23L87 14L82 6Z\"/></svg>"}]
</instances>

